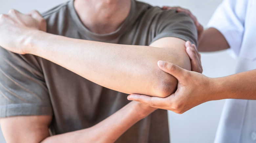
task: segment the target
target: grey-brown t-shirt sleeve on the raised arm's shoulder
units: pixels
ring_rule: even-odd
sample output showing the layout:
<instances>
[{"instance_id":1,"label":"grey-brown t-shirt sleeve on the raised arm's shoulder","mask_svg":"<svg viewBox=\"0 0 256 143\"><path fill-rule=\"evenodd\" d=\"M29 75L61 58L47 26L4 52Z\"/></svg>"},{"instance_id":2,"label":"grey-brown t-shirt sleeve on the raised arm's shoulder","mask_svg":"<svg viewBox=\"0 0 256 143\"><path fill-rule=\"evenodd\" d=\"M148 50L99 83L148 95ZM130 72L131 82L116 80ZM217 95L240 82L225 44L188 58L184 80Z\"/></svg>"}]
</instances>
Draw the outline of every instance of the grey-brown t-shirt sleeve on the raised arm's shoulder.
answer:
<instances>
[{"instance_id":1,"label":"grey-brown t-shirt sleeve on the raised arm's shoulder","mask_svg":"<svg viewBox=\"0 0 256 143\"><path fill-rule=\"evenodd\" d=\"M188 15L166 10L158 13L154 22L154 38L151 43L163 37L176 37L197 45L197 29Z\"/></svg>"}]
</instances>

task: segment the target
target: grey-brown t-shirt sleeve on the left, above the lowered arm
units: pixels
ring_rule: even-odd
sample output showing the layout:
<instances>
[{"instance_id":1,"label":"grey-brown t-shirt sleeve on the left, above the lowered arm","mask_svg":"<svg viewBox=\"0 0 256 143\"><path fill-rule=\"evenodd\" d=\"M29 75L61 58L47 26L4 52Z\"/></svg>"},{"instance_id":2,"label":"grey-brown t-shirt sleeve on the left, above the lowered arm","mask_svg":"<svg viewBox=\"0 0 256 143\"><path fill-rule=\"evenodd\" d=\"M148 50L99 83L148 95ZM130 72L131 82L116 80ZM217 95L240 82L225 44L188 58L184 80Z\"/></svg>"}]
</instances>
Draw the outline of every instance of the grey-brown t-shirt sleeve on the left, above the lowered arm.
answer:
<instances>
[{"instance_id":1,"label":"grey-brown t-shirt sleeve on the left, above the lowered arm","mask_svg":"<svg viewBox=\"0 0 256 143\"><path fill-rule=\"evenodd\" d=\"M0 47L0 118L52 115L49 92L37 58Z\"/></svg>"}]
</instances>

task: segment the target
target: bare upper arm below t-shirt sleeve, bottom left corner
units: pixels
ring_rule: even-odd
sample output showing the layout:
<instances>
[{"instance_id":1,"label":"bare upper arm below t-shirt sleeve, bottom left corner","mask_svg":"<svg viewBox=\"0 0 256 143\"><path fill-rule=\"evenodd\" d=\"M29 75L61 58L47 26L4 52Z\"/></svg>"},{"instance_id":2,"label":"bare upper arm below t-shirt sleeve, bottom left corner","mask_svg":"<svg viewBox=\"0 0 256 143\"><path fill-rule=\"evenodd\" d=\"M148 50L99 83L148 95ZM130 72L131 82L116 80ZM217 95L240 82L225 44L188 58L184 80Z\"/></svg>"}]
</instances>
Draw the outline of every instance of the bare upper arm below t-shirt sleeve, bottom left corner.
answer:
<instances>
[{"instance_id":1,"label":"bare upper arm below t-shirt sleeve, bottom left corner","mask_svg":"<svg viewBox=\"0 0 256 143\"><path fill-rule=\"evenodd\" d=\"M1 118L3 135L8 143L39 143L50 136L52 116L15 116Z\"/></svg>"}]
</instances>

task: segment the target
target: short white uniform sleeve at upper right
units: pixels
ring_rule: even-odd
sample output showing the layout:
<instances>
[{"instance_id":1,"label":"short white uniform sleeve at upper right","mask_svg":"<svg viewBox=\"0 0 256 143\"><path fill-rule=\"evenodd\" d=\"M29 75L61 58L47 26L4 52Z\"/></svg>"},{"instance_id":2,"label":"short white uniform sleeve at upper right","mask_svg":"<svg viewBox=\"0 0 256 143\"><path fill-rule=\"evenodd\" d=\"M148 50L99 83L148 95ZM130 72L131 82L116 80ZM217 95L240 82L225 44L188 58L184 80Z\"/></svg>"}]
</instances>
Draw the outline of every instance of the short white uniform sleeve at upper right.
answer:
<instances>
[{"instance_id":1,"label":"short white uniform sleeve at upper right","mask_svg":"<svg viewBox=\"0 0 256 143\"><path fill-rule=\"evenodd\" d=\"M239 55L243 41L246 7L247 0L224 0L207 24L224 35L233 57Z\"/></svg>"}]
</instances>

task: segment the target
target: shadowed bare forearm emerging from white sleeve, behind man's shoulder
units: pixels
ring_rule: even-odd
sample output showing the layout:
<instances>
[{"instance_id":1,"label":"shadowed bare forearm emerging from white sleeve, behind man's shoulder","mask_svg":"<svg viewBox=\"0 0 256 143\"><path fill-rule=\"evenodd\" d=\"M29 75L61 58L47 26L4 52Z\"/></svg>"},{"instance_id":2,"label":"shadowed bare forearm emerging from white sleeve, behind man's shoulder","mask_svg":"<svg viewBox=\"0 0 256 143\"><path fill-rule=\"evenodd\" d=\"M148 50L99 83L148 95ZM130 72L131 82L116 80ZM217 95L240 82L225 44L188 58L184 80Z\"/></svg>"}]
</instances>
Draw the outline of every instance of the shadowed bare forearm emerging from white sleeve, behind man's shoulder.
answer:
<instances>
[{"instance_id":1,"label":"shadowed bare forearm emerging from white sleeve, behind man's shoulder","mask_svg":"<svg viewBox=\"0 0 256 143\"><path fill-rule=\"evenodd\" d=\"M228 48L229 44L220 31L215 28L209 28L203 31L198 45L199 52L213 52Z\"/></svg>"}]
</instances>

